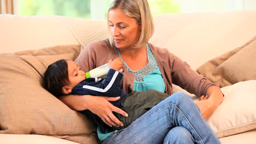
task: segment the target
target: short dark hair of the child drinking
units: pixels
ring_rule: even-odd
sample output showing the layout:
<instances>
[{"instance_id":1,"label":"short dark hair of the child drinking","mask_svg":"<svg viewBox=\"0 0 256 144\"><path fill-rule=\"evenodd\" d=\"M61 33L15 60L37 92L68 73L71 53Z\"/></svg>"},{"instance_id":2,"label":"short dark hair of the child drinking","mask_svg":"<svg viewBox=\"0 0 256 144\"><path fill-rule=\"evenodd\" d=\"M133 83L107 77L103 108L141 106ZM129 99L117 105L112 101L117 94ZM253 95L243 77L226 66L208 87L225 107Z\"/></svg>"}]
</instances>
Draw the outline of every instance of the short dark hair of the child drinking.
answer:
<instances>
[{"instance_id":1,"label":"short dark hair of the child drinking","mask_svg":"<svg viewBox=\"0 0 256 144\"><path fill-rule=\"evenodd\" d=\"M44 73L44 88L56 98L65 95L62 87L69 83L67 60L60 59L48 66Z\"/></svg>"}]
</instances>

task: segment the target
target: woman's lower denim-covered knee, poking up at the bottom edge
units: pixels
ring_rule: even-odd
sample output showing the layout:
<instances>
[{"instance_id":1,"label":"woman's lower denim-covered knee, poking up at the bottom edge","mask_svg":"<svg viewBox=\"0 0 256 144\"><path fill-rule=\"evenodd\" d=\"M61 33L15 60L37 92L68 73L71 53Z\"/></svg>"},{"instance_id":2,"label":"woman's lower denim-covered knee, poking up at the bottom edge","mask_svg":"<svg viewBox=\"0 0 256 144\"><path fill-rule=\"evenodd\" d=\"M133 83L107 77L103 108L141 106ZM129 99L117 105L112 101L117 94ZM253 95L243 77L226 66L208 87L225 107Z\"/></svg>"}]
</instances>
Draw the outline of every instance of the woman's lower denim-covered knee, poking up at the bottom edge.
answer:
<instances>
[{"instance_id":1,"label":"woman's lower denim-covered knee, poking up at the bottom edge","mask_svg":"<svg viewBox=\"0 0 256 144\"><path fill-rule=\"evenodd\" d=\"M166 135L164 143L194 143L194 138L188 129L174 127Z\"/></svg>"}]
</instances>

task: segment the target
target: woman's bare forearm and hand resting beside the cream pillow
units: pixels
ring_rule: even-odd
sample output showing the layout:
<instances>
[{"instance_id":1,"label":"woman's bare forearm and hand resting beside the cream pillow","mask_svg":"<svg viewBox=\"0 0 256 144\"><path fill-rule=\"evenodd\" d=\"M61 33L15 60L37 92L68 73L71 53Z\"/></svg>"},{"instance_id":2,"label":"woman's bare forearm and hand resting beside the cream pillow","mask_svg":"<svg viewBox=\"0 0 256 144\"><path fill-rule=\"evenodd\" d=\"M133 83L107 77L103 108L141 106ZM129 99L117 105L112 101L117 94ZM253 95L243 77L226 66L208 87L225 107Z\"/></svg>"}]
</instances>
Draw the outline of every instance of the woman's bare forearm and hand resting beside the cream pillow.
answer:
<instances>
[{"instance_id":1,"label":"woman's bare forearm and hand resting beside the cream pillow","mask_svg":"<svg viewBox=\"0 0 256 144\"><path fill-rule=\"evenodd\" d=\"M208 96L207 100L195 101L195 104L199 107L202 117L207 121L219 104L222 103L223 93L218 87L211 86L207 89L206 94Z\"/></svg>"}]
</instances>

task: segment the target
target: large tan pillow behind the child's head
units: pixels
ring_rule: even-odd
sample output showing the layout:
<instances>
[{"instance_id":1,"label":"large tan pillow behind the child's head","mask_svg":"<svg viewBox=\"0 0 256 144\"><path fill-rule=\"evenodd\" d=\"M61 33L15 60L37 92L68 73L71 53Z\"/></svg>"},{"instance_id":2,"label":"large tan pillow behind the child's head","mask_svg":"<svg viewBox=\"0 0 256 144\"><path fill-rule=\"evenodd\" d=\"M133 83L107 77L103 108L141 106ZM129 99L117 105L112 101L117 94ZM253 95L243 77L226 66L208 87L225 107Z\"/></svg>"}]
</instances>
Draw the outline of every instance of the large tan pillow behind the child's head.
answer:
<instances>
[{"instance_id":1,"label":"large tan pillow behind the child's head","mask_svg":"<svg viewBox=\"0 0 256 144\"><path fill-rule=\"evenodd\" d=\"M39 134L96 143L90 119L69 109L42 87L44 71L61 59L74 60L80 45L0 54L0 134Z\"/></svg>"}]
</instances>

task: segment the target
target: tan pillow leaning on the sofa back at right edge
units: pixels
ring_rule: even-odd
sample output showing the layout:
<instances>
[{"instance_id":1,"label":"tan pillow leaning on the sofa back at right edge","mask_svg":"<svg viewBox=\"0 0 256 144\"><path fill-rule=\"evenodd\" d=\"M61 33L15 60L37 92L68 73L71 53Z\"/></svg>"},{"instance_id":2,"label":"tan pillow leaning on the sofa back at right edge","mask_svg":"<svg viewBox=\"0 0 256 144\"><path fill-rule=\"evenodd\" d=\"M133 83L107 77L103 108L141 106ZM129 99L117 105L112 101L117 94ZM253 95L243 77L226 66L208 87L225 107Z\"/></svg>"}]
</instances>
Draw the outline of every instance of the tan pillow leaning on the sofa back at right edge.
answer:
<instances>
[{"instance_id":1,"label":"tan pillow leaning on the sofa back at right edge","mask_svg":"<svg viewBox=\"0 0 256 144\"><path fill-rule=\"evenodd\" d=\"M256 80L256 37L245 45L213 58L197 69L219 87L240 81Z\"/></svg>"}]
</instances>

